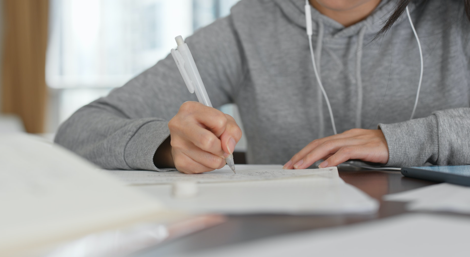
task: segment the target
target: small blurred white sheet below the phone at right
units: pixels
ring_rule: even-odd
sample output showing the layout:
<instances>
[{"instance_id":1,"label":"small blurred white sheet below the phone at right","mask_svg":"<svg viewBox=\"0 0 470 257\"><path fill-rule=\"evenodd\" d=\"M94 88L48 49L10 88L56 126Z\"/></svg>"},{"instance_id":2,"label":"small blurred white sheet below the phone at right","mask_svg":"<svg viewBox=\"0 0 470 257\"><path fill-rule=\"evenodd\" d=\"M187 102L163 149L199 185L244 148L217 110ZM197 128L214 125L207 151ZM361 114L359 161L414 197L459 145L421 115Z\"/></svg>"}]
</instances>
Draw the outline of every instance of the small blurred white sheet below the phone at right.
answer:
<instances>
[{"instance_id":1,"label":"small blurred white sheet below the phone at right","mask_svg":"<svg viewBox=\"0 0 470 257\"><path fill-rule=\"evenodd\" d=\"M394 193L383 197L387 201L409 202L408 210L451 211L470 214L470 187L441 183Z\"/></svg>"}]
</instances>

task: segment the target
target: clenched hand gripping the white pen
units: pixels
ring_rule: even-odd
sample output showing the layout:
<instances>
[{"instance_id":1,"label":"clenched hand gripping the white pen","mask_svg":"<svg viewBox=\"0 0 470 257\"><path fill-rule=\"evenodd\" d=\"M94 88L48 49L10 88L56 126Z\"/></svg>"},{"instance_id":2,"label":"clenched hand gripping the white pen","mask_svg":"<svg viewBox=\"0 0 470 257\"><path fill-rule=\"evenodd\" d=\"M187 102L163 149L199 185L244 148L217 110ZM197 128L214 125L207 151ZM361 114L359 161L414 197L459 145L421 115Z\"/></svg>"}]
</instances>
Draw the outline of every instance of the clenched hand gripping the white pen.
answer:
<instances>
[{"instance_id":1,"label":"clenched hand gripping the white pen","mask_svg":"<svg viewBox=\"0 0 470 257\"><path fill-rule=\"evenodd\" d=\"M221 168L242 132L234 118L198 102L185 102L168 123L174 167L193 174Z\"/></svg>"}]
</instances>

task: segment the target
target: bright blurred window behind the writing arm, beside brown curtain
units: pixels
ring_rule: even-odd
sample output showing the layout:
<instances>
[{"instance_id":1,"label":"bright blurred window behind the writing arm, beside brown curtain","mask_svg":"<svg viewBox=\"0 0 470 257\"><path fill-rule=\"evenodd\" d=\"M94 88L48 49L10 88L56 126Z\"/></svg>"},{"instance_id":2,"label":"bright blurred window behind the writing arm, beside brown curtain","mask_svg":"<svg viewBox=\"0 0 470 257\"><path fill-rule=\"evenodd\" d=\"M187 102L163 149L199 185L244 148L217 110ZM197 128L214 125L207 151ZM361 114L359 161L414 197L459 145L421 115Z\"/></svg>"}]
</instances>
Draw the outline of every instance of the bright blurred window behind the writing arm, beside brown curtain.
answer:
<instances>
[{"instance_id":1,"label":"bright blurred window behind the writing arm, beside brown curtain","mask_svg":"<svg viewBox=\"0 0 470 257\"><path fill-rule=\"evenodd\" d=\"M50 0L49 131L166 57L238 0Z\"/></svg>"}]
</instances>

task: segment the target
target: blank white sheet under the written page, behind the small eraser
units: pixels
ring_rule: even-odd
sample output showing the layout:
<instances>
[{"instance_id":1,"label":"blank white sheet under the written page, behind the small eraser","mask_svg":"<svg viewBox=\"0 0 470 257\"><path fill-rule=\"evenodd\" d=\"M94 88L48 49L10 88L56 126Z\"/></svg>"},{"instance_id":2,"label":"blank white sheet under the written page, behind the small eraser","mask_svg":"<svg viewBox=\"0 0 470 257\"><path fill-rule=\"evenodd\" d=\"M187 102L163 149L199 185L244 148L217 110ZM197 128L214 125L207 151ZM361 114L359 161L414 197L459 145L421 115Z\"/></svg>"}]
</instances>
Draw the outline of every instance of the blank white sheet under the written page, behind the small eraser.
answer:
<instances>
[{"instance_id":1,"label":"blank white sheet under the written page, behind the small eraser","mask_svg":"<svg viewBox=\"0 0 470 257\"><path fill-rule=\"evenodd\" d=\"M335 170L337 174L337 171ZM166 206L192 213L375 213L378 202L336 176L198 184L193 197L172 194L172 185L139 186Z\"/></svg>"}]
</instances>

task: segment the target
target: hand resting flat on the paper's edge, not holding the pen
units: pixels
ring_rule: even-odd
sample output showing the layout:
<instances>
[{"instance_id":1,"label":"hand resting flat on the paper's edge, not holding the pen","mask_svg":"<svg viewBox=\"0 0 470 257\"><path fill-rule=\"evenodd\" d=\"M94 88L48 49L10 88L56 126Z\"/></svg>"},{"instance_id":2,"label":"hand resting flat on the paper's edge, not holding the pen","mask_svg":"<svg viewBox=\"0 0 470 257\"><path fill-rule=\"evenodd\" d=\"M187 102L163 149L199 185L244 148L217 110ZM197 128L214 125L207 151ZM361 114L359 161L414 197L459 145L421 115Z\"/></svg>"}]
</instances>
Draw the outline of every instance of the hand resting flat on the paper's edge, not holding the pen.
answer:
<instances>
[{"instance_id":1,"label":"hand resting flat on the paper's edge, not holding the pen","mask_svg":"<svg viewBox=\"0 0 470 257\"><path fill-rule=\"evenodd\" d=\"M351 159L387 163L389 150L380 129L354 128L344 133L313 140L290 161L284 169L306 169L315 161L323 161L318 167L336 166Z\"/></svg>"}]
</instances>

